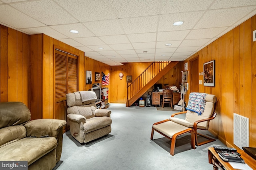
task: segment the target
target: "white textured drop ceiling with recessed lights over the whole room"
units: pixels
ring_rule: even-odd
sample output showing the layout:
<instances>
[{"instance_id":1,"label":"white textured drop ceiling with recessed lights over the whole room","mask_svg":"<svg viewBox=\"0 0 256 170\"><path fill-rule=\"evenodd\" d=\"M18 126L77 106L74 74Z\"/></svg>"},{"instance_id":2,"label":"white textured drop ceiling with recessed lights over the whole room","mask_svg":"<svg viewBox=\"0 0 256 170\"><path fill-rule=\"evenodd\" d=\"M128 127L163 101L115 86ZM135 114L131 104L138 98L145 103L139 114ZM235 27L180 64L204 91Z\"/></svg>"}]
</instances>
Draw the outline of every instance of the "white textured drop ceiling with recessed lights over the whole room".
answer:
<instances>
[{"instance_id":1,"label":"white textured drop ceiling with recessed lights over the whole room","mask_svg":"<svg viewBox=\"0 0 256 170\"><path fill-rule=\"evenodd\" d=\"M255 14L256 0L0 0L0 24L111 66L183 61Z\"/></svg>"}]
</instances>

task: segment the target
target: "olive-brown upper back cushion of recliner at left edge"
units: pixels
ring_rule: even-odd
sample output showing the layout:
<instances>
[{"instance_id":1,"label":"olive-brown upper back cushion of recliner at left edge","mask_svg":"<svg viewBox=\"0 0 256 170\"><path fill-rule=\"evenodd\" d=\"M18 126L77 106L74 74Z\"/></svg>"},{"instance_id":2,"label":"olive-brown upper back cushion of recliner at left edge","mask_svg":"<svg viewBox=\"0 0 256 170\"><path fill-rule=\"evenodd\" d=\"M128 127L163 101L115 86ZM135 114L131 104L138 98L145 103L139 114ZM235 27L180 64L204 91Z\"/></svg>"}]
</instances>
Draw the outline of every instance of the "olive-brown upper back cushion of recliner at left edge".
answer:
<instances>
[{"instance_id":1,"label":"olive-brown upper back cushion of recliner at left edge","mask_svg":"<svg viewBox=\"0 0 256 170\"><path fill-rule=\"evenodd\" d=\"M0 103L0 128L12 125L24 125L30 121L30 111L22 102Z\"/></svg>"}]
</instances>

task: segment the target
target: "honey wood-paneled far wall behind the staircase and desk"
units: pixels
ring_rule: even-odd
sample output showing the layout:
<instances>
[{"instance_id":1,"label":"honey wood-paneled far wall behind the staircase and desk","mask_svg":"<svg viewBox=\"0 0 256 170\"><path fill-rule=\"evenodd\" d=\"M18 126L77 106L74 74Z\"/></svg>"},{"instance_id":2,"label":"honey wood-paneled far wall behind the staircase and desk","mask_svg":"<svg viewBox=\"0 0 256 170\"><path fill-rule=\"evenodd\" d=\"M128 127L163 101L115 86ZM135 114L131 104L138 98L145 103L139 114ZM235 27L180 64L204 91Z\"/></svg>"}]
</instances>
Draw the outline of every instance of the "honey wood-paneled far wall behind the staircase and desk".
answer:
<instances>
[{"instance_id":1,"label":"honey wood-paneled far wall behind the staircase and desk","mask_svg":"<svg viewBox=\"0 0 256 170\"><path fill-rule=\"evenodd\" d=\"M135 80L151 63L123 63L123 66L111 66L111 102L112 103L126 103L127 88L126 88L126 76L132 76L132 81ZM177 64L172 68L165 76L158 80L157 84L169 84L171 86L177 86L178 88L181 82L181 64ZM124 77L122 80L119 78L119 73L122 72ZM152 88L148 90L152 91ZM145 97L146 95L144 95Z\"/></svg>"}]
</instances>

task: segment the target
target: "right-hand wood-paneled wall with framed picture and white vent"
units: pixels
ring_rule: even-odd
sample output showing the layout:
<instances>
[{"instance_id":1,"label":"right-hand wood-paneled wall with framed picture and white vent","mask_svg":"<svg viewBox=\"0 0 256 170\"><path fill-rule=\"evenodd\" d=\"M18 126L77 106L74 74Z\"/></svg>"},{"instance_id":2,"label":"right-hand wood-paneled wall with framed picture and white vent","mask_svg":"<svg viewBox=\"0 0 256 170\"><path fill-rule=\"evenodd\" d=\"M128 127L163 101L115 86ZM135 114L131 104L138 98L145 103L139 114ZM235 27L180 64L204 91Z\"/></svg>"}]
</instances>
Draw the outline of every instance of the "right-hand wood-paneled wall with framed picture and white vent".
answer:
<instances>
[{"instance_id":1,"label":"right-hand wood-paneled wall with framed picture and white vent","mask_svg":"<svg viewBox=\"0 0 256 170\"><path fill-rule=\"evenodd\" d=\"M256 147L256 41L252 41L255 29L253 16L183 62L184 69L184 63L189 64L198 55L199 72L203 72L203 64L215 60L215 87L199 84L199 92L216 95L218 114L210 123L210 131L233 147L233 113L249 118L249 145ZM190 69L193 68L188 65Z\"/></svg>"}]
</instances>

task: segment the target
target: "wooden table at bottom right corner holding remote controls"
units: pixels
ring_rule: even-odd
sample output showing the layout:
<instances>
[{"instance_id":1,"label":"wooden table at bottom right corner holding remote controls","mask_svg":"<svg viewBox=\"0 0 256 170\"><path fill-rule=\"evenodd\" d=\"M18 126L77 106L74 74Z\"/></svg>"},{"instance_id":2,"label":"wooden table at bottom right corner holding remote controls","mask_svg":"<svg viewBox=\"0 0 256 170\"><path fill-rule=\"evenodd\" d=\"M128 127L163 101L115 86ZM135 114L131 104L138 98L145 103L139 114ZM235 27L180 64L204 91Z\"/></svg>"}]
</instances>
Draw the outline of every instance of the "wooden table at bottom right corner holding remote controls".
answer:
<instances>
[{"instance_id":1,"label":"wooden table at bottom right corner holding remote controls","mask_svg":"<svg viewBox=\"0 0 256 170\"><path fill-rule=\"evenodd\" d=\"M238 153L241 154L241 158L244 159L244 162L248 164L253 170L256 170L256 160L249 156L244 150L238 149ZM215 152L214 148L208 148L208 160L209 164L213 164L213 169L218 170L226 168L226 170L234 170L232 166L228 163L225 162L220 158L220 156ZM224 169L223 169L224 170Z\"/></svg>"}]
</instances>

